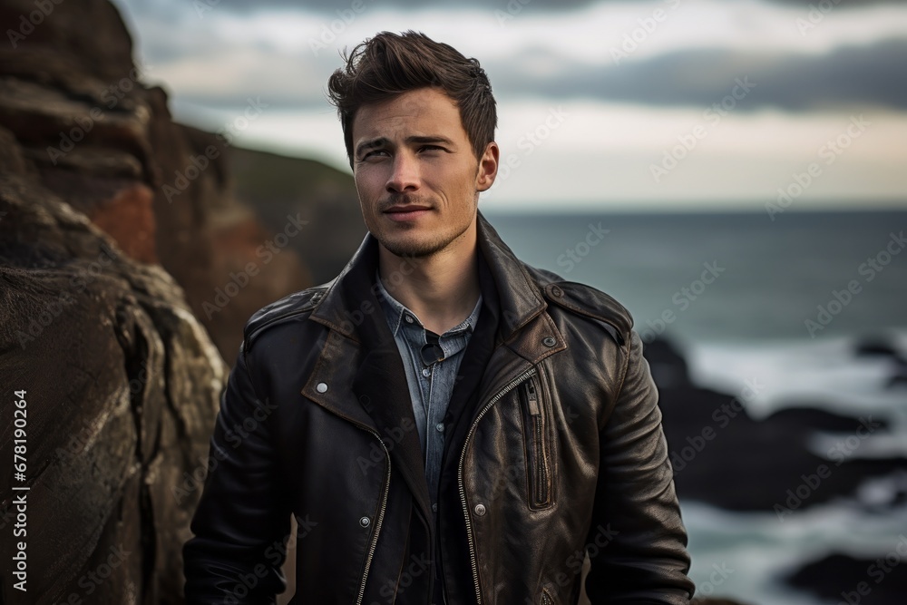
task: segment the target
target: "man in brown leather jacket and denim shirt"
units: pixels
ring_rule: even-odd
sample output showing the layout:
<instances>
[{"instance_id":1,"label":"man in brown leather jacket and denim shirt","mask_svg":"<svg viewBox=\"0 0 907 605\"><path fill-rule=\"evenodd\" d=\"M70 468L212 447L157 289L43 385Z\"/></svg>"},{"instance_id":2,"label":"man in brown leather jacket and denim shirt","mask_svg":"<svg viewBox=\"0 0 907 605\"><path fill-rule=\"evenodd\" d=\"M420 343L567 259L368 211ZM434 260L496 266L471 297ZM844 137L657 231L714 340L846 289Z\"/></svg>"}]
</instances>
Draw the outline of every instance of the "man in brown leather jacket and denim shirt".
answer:
<instances>
[{"instance_id":1,"label":"man in brown leather jacket and denim shirt","mask_svg":"<svg viewBox=\"0 0 907 605\"><path fill-rule=\"evenodd\" d=\"M249 320L185 548L190 602L688 603L658 395L627 312L478 213L475 60L378 34L329 82L369 230ZM299 532L288 535L290 515Z\"/></svg>"}]
</instances>

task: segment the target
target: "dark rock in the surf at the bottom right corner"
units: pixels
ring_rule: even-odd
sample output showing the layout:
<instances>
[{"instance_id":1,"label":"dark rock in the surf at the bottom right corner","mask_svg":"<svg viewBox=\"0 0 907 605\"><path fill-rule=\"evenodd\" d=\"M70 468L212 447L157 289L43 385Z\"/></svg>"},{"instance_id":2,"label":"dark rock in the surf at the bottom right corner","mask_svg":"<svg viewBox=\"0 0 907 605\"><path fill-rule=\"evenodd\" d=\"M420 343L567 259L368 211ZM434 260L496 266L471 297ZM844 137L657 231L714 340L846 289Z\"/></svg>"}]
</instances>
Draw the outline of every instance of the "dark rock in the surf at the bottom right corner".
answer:
<instances>
[{"instance_id":1,"label":"dark rock in the surf at the bottom right corner","mask_svg":"<svg viewBox=\"0 0 907 605\"><path fill-rule=\"evenodd\" d=\"M892 549L873 559L830 554L807 563L786 582L821 599L860 605L903 605L907 596L907 536L895 537Z\"/></svg>"}]
</instances>

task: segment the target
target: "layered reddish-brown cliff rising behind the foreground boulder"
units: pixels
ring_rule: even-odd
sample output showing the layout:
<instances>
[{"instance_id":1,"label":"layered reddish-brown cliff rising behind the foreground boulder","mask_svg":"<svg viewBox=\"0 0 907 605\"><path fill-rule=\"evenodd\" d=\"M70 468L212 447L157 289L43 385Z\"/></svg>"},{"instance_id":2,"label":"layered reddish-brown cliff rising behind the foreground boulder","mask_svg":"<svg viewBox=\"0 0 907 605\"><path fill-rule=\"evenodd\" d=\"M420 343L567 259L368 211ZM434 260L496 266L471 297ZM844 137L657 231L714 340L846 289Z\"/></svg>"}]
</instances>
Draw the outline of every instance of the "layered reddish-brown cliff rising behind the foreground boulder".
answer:
<instances>
[{"instance_id":1,"label":"layered reddish-brown cliff rising behind the foreground boulder","mask_svg":"<svg viewBox=\"0 0 907 605\"><path fill-rule=\"evenodd\" d=\"M176 278L232 364L245 320L312 284L298 247L275 245L278 235L233 195L229 136L174 123L163 90L142 84L153 68L132 63L109 2L48 6L35 16L32 1L0 2L10 39L0 46L0 126L45 189L132 259ZM287 223L274 229L293 233L289 242L307 237Z\"/></svg>"}]
</instances>

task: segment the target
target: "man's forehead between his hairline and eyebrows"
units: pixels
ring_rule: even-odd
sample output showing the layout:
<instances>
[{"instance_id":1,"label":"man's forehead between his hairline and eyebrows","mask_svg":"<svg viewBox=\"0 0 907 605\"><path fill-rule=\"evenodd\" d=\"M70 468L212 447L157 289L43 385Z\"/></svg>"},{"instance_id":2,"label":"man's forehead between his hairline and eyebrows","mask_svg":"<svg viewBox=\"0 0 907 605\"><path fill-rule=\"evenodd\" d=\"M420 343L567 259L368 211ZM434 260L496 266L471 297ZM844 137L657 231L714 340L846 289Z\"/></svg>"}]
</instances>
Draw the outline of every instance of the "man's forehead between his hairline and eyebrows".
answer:
<instances>
[{"instance_id":1,"label":"man's forehead between his hairline and eyebrows","mask_svg":"<svg viewBox=\"0 0 907 605\"><path fill-rule=\"evenodd\" d=\"M406 134L466 137L460 110L444 91L420 88L393 99L363 105L353 119L353 142Z\"/></svg>"}]
</instances>

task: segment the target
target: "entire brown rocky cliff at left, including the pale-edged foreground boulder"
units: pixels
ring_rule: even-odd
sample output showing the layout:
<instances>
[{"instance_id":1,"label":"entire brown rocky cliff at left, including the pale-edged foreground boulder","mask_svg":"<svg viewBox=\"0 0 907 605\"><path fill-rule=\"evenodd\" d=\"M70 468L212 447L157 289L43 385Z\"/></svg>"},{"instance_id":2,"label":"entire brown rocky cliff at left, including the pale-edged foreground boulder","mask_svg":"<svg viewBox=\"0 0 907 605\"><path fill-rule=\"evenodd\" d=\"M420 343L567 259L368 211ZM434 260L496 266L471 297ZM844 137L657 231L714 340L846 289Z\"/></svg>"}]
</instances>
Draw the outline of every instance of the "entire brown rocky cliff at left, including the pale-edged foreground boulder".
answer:
<instances>
[{"instance_id":1,"label":"entire brown rocky cliff at left, including the pale-edged foreground boulder","mask_svg":"<svg viewBox=\"0 0 907 605\"><path fill-rule=\"evenodd\" d=\"M0 602L181 602L221 354L311 280L109 2L0 0L0 31Z\"/></svg>"}]
</instances>

